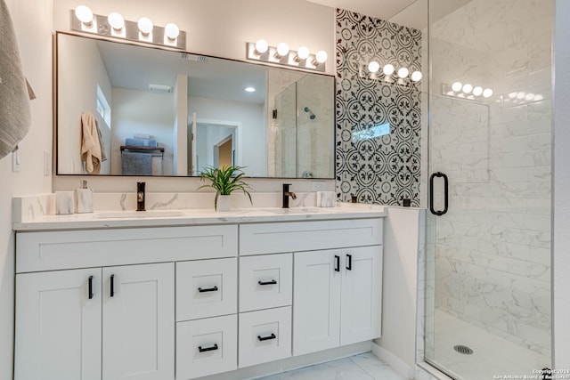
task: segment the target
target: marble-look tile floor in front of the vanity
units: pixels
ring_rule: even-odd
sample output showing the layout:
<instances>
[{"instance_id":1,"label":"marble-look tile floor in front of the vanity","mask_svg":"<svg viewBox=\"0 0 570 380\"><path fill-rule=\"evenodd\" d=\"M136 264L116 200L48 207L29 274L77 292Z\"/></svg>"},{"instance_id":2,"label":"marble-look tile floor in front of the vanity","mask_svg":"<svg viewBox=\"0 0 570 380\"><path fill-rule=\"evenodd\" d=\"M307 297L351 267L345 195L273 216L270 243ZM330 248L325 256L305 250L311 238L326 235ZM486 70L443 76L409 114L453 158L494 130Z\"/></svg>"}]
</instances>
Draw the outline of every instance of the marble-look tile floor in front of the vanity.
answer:
<instances>
[{"instance_id":1,"label":"marble-look tile floor in front of the vanity","mask_svg":"<svg viewBox=\"0 0 570 380\"><path fill-rule=\"evenodd\" d=\"M406 380L371 352L299 368L259 380Z\"/></svg>"}]
</instances>

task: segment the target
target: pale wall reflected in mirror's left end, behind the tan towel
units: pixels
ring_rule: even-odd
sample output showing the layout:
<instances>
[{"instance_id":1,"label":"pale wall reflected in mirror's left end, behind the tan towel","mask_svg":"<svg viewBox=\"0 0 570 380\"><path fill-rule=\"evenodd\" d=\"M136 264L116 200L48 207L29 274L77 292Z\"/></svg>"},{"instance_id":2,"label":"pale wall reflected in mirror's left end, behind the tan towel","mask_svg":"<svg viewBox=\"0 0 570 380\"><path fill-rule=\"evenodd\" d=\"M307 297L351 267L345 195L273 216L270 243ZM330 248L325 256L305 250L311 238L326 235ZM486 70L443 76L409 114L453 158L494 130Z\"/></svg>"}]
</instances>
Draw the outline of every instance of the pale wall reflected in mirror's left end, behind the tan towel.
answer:
<instances>
[{"instance_id":1,"label":"pale wall reflected in mirror's left end, behind the tan towel","mask_svg":"<svg viewBox=\"0 0 570 380\"><path fill-rule=\"evenodd\" d=\"M94 40L60 36L58 49L58 169L61 174L83 174L81 161L81 113L90 111L102 135L107 137L105 149L110 154L110 129L97 112L97 85L112 104L111 85L101 53ZM85 73L94 73L85 75ZM80 90L78 90L80 89ZM101 174L110 174L109 160L104 161Z\"/></svg>"}]
</instances>

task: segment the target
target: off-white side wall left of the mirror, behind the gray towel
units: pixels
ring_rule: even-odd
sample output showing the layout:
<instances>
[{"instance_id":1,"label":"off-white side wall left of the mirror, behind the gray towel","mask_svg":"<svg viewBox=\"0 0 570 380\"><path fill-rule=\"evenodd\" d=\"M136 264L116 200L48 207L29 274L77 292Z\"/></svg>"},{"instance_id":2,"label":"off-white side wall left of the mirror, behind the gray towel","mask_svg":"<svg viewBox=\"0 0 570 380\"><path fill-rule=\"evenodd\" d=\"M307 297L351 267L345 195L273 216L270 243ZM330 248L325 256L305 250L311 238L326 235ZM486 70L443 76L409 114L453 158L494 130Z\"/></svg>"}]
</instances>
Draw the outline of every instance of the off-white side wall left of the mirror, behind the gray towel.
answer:
<instances>
[{"instance_id":1,"label":"off-white side wall left of the mirror, behind the gray towel","mask_svg":"<svg viewBox=\"0 0 570 380\"><path fill-rule=\"evenodd\" d=\"M12 14L24 75L37 95L30 102L32 124L20 142L21 171L12 173L11 155L0 160L0 379L12 378L14 312L14 239L12 196L51 191L44 176L44 152L52 151L51 0L7 0Z\"/></svg>"}]
</instances>

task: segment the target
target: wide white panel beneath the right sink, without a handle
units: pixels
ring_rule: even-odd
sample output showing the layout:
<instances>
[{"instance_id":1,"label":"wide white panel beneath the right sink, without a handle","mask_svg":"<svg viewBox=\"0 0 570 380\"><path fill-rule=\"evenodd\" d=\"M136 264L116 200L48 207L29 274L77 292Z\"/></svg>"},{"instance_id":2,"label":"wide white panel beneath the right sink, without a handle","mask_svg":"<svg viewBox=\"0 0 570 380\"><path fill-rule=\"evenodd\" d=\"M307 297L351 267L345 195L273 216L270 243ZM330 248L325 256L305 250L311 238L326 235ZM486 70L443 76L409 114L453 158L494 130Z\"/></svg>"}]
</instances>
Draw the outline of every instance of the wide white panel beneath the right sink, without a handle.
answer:
<instances>
[{"instance_id":1,"label":"wide white panel beneath the right sink, without a handle","mask_svg":"<svg viewBox=\"0 0 570 380\"><path fill-rule=\"evenodd\" d=\"M382 219L240 225L240 255L382 244Z\"/></svg>"}]
</instances>

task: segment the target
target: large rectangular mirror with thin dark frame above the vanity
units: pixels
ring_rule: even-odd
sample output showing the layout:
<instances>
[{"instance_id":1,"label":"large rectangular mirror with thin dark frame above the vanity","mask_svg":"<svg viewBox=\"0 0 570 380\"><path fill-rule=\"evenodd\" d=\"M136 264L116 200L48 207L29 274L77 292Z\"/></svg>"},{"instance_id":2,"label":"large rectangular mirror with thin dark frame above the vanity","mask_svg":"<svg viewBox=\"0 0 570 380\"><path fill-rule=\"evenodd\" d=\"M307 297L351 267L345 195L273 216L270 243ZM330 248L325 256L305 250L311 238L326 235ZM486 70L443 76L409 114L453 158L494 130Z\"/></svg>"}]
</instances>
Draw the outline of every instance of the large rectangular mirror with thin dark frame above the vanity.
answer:
<instances>
[{"instance_id":1,"label":"large rectangular mirror with thin dark frame above the vanity","mask_svg":"<svg viewBox=\"0 0 570 380\"><path fill-rule=\"evenodd\" d=\"M334 77L61 32L56 74L57 174L334 178Z\"/></svg>"}]
</instances>

